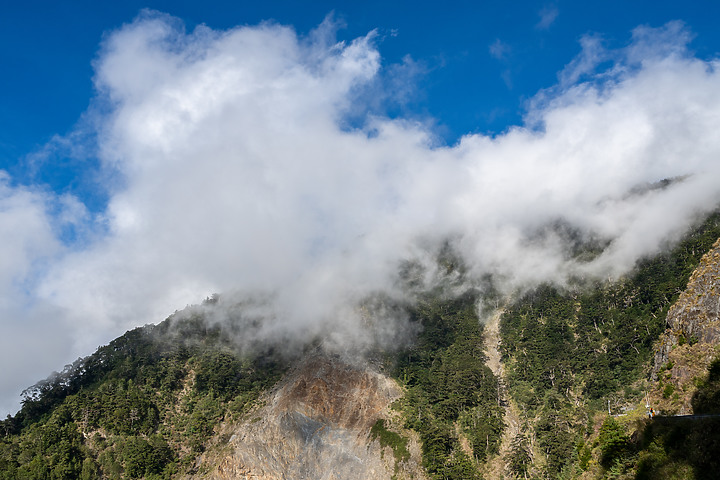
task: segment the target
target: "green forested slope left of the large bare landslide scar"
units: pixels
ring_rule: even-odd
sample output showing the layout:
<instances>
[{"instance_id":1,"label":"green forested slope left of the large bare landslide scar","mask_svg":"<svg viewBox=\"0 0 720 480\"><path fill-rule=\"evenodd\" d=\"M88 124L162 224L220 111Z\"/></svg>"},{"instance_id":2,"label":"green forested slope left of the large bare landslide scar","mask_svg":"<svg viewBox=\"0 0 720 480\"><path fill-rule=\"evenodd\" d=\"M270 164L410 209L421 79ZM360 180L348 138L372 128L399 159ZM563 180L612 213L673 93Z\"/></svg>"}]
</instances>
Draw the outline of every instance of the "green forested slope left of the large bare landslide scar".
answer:
<instances>
[{"instance_id":1,"label":"green forested slope left of the large bare landslide scar","mask_svg":"<svg viewBox=\"0 0 720 480\"><path fill-rule=\"evenodd\" d=\"M283 373L199 315L127 332L24 392L0 423L0 479L169 479Z\"/></svg>"}]
</instances>

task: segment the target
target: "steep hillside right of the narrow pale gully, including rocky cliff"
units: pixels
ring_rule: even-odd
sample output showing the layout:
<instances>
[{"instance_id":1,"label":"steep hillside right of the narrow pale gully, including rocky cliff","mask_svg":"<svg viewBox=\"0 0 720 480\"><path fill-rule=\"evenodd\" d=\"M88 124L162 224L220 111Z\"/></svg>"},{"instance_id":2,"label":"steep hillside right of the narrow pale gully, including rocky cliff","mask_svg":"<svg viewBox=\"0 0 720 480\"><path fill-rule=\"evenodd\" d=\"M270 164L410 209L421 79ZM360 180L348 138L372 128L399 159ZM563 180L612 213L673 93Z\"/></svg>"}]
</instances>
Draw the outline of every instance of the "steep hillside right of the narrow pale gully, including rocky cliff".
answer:
<instances>
[{"instance_id":1,"label":"steep hillside right of the narrow pale gully, including rocky cliff","mask_svg":"<svg viewBox=\"0 0 720 480\"><path fill-rule=\"evenodd\" d=\"M720 266L715 251L701 257L718 237L715 214L619 282L545 285L507 306L501 320L506 382L525 421L504 459L508 475L633 478L643 444L631 438L639 442L644 429L653 359L663 365L663 379L675 379L660 388L677 402L667 385L700 375L715 351ZM666 317L671 330L663 334ZM692 356L677 368L663 360L682 351ZM697 365L693 375L688 362Z\"/></svg>"}]
</instances>

